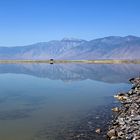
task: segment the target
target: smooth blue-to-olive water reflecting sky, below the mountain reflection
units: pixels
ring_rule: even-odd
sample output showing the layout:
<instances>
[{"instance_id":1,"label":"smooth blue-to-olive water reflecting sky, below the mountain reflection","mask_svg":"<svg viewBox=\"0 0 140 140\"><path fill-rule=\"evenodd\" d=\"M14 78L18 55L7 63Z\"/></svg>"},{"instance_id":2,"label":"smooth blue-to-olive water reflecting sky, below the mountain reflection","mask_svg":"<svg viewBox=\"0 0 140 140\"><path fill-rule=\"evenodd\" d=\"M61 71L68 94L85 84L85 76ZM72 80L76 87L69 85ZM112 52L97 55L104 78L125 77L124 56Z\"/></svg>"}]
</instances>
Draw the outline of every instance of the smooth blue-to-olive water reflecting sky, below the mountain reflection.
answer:
<instances>
[{"instance_id":1,"label":"smooth blue-to-olive water reflecting sky, below the mountain reflection","mask_svg":"<svg viewBox=\"0 0 140 140\"><path fill-rule=\"evenodd\" d=\"M111 102L108 98L113 100L113 94L129 86L0 74L0 139L55 140L54 131L68 129L89 110Z\"/></svg>"}]
</instances>

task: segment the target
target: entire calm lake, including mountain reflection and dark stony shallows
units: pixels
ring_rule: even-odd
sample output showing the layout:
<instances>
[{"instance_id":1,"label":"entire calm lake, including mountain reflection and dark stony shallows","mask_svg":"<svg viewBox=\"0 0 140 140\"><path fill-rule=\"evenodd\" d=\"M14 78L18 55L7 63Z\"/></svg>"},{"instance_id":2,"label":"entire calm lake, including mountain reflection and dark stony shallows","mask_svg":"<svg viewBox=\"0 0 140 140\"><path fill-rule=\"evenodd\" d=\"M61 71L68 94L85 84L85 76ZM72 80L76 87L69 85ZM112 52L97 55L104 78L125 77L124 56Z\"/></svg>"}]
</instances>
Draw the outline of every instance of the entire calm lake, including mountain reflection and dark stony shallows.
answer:
<instances>
[{"instance_id":1,"label":"entire calm lake, including mountain reflection and dark stony shallows","mask_svg":"<svg viewBox=\"0 0 140 140\"><path fill-rule=\"evenodd\" d=\"M0 64L0 140L103 140L113 95L139 74L139 64Z\"/></svg>"}]
</instances>

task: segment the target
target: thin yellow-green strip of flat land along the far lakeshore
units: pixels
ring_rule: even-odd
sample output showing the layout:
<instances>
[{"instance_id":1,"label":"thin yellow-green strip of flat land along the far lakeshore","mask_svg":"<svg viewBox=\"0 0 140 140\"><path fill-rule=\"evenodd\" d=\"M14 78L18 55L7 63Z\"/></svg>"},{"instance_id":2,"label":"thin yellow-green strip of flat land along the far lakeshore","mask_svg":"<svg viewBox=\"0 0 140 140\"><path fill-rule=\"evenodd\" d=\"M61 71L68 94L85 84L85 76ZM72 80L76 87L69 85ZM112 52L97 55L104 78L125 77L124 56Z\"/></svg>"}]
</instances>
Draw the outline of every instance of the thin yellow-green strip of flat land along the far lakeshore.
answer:
<instances>
[{"instance_id":1,"label":"thin yellow-green strip of flat land along the far lakeshore","mask_svg":"<svg viewBox=\"0 0 140 140\"><path fill-rule=\"evenodd\" d=\"M103 59L103 60L0 60L0 64L18 64L18 63L47 63L47 64L59 64L59 63L83 63L83 64L140 64L140 60L115 60L115 59Z\"/></svg>"}]
</instances>

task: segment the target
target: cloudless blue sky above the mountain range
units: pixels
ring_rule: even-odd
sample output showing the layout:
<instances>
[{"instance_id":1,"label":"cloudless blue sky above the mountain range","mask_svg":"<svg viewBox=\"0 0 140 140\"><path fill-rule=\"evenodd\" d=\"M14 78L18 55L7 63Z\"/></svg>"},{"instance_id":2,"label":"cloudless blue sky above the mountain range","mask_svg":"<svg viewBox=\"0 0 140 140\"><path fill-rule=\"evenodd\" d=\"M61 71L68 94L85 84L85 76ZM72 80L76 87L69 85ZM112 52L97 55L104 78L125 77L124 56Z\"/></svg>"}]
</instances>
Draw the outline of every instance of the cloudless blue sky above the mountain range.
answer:
<instances>
[{"instance_id":1,"label":"cloudless blue sky above the mountain range","mask_svg":"<svg viewBox=\"0 0 140 140\"><path fill-rule=\"evenodd\" d=\"M140 0L0 0L0 46L140 36Z\"/></svg>"}]
</instances>

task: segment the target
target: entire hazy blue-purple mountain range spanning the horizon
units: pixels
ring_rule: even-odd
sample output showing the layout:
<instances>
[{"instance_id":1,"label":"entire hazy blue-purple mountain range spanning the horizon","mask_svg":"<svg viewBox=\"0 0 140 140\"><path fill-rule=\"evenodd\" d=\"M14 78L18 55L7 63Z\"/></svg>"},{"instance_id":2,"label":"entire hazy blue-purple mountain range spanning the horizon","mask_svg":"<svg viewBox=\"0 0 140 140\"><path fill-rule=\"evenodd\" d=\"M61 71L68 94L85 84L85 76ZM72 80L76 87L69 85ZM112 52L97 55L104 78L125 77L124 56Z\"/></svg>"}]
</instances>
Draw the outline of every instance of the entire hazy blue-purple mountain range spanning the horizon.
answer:
<instances>
[{"instance_id":1,"label":"entire hazy blue-purple mountain range spanning the horizon","mask_svg":"<svg viewBox=\"0 0 140 140\"><path fill-rule=\"evenodd\" d=\"M0 47L0 59L140 59L140 37L109 36L90 41L64 38L27 46Z\"/></svg>"}]
</instances>

